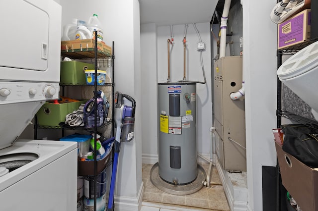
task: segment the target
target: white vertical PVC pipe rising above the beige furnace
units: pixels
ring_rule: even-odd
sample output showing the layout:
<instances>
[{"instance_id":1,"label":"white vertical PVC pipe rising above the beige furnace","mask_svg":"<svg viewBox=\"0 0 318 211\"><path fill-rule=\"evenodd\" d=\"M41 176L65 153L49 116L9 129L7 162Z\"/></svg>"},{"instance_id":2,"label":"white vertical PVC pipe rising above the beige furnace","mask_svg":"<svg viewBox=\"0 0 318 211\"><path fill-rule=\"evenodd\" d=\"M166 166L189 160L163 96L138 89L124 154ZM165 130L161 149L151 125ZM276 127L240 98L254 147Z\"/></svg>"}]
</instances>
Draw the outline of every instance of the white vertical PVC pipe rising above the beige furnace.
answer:
<instances>
[{"instance_id":1,"label":"white vertical PVC pipe rising above the beige furnace","mask_svg":"<svg viewBox=\"0 0 318 211\"><path fill-rule=\"evenodd\" d=\"M225 48L227 41L227 22L231 6L231 0L225 0L221 18L221 38L220 38L220 58L225 56Z\"/></svg>"}]
</instances>

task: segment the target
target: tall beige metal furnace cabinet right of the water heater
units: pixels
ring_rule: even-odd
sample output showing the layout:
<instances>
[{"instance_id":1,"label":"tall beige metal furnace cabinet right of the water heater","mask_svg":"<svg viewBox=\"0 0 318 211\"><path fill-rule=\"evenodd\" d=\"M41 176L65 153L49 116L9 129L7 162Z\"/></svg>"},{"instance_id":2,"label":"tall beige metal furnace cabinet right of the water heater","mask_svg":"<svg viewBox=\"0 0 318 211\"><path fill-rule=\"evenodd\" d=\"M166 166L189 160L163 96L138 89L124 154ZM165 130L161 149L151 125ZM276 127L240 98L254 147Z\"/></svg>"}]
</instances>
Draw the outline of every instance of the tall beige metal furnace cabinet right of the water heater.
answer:
<instances>
[{"instance_id":1,"label":"tall beige metal furnace cabinet right of the water heater","mask_svg":"<svg viewBox=\"0 0 318 211\"><path fill-rule=\"evenodd\" d=\"M222 57L214 64L214 127L216 153L225 170L246 171L244 98L231 93L242 84L242 57Z\"/></svg>"}]
</instances>

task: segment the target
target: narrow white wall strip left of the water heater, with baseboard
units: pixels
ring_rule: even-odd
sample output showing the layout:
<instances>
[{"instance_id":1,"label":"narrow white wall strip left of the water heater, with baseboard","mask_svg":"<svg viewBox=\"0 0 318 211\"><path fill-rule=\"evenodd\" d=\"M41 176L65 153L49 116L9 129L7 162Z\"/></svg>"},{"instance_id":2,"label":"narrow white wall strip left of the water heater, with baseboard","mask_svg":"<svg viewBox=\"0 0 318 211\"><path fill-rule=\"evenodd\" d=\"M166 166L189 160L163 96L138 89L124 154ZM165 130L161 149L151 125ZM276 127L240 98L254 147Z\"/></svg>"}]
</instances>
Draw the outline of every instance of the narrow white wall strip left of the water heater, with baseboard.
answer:
<instances>
[{"instance_id":1,"label":"narrow white wall strip left of the water heater, with baseboard","mask_svg":"<svg viewBox=\"0 0 318 211\"><path fill-rule=\"evenodd\" d=\"M141 25L142 157L143 163L158 161L157 145L157 27Z\"/></svg>"}]
</instances>

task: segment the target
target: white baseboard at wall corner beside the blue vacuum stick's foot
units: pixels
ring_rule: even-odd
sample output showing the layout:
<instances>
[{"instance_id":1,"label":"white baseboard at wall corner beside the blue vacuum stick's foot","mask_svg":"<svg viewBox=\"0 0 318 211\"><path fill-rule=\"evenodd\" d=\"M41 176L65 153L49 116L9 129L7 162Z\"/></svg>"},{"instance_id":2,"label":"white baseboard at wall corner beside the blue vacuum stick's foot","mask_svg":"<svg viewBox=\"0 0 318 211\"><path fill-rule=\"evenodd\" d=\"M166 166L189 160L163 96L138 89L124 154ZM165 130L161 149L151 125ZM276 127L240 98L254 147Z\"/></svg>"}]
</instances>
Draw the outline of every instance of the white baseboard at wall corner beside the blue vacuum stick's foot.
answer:
<instances>
[{"instance_id":1,"label":"white baseboard at wall corner beside the blue vacuum stick's foot","mask_svg":"<svg viewBox=\"0 0 318 211\"><path fill-rule=\"evenodd\" d=\"M115 196L114 197L114 210L116 211L140 211L144 197L144 182L141 183L139 192L136 198Z\"/></svg>"}]
</instances>

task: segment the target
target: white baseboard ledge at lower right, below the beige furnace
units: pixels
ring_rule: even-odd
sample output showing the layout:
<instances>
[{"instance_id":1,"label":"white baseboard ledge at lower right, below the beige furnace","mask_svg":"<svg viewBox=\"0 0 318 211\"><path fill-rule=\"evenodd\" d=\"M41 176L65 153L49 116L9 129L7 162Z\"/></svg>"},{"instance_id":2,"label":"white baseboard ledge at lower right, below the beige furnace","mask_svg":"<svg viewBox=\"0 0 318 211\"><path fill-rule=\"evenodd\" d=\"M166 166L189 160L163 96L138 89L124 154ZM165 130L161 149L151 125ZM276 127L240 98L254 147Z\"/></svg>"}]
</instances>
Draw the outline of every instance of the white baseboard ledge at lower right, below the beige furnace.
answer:
<instances>
[{"instance_id":1,"label":"white baseboard ledge at lower right, below the beige furnace","mask_svg":"<svg viewBox=\"0 0 318 211\"><path fill-rule=\"evenodd\" d=\"M218 169L230 210L247 211L247 188L234 187L226 170L222 168L219 158L214 155L213 160L215 161L215 165Z\"/></svg>"}]
</instances>

